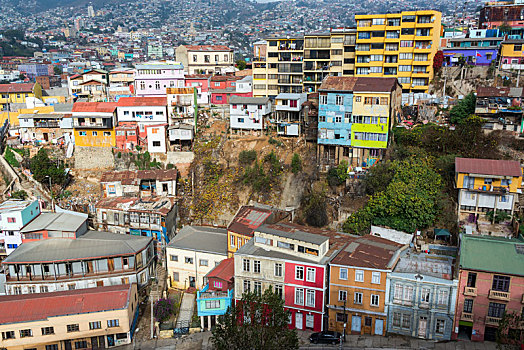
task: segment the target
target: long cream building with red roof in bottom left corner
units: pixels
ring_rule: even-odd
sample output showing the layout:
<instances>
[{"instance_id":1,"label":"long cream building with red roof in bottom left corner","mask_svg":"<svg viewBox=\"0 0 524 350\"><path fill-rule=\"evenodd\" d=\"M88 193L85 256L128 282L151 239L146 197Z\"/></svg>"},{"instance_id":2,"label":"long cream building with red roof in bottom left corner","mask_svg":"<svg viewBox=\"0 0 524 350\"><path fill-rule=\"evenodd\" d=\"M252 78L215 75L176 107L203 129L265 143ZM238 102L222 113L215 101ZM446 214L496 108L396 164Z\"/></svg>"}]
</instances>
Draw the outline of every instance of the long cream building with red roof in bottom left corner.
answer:
<instances>
[{"instance_id":1,"label":"long cream building with red roof in bottom left corner","mask_svg":"<svg viewBox=\"0 0 524 350\"><path fill-rule=\"evenodd\" d=\"M105 349L129 344L138 317L136 284L0 296L6 349Z\"/></svg>"}]
</instances>

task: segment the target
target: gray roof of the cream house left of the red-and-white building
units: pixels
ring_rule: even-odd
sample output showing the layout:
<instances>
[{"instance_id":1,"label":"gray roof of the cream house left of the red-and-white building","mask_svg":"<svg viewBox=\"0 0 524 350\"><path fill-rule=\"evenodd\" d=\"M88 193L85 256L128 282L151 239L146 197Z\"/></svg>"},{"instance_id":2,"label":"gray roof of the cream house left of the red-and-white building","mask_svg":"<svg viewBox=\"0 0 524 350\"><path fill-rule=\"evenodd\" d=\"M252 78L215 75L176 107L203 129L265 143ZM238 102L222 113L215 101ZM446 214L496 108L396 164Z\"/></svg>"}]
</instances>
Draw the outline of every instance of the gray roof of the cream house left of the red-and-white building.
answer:
<instances>
[{"instance_id":1,"label":"gray roof of the cream house left of the red-and-white building","mask_svg":"<svg viewBox=\"0 0 524 350\"><path fill-rule=\"evenodd\" d=\"M209 226L185 226L169 242L167 247L227 255L227 229Z\"/></svg>"}]
</instances>

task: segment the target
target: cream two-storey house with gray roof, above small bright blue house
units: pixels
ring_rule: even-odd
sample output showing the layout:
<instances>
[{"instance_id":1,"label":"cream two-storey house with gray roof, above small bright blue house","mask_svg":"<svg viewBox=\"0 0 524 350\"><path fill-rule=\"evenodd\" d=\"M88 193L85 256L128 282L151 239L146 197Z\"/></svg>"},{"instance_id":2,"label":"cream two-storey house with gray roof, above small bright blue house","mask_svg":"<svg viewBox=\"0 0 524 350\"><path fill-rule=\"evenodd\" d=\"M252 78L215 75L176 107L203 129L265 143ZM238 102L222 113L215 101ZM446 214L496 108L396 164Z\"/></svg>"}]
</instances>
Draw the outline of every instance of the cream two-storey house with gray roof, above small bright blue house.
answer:
<instances>
[{"instance_id":1,"label":"cream two-storey house with gray roof, above small bright blue house","mask_svg":"<svg viewBox=\"0 0 524 350\"><path fill-rule=\"evenodd\" d=\"M227 230L185 226L169 242L166 254L170 286L201 290L206 275L227 258Z\"/></svg>"}]
</instances>

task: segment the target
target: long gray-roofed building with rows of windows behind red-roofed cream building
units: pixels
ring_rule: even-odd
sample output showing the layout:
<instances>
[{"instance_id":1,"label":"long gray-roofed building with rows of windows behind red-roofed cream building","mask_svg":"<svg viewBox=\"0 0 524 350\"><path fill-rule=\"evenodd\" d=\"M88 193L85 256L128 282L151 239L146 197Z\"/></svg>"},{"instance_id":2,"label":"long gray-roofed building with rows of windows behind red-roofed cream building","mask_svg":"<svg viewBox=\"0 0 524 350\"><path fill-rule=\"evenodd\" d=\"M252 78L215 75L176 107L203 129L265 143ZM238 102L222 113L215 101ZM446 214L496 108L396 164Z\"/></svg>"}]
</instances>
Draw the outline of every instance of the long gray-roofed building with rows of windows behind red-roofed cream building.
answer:
<instances>
[{"instance_id":1,"label":"long gray-roofed building with rows of windows behind red-roofed cream building","mask_svg":"<svg viewBox=\"0 0 524 350\"><path fill-rule=\"evenodd\" d=\"M137 283L154 275L150 237L88 231L75 239L22 244L2 265L7 294L33 294Z\"/></svg>"}]
</instances>

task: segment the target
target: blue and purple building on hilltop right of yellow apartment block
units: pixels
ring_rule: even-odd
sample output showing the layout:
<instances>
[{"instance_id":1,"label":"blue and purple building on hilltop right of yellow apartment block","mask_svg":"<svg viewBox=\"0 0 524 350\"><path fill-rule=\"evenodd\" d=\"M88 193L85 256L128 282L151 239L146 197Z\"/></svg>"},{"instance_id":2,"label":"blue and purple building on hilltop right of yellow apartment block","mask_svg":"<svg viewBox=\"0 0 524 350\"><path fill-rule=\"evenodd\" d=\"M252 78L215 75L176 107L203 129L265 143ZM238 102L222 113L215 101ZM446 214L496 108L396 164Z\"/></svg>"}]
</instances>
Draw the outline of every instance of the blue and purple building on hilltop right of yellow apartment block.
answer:
<instances>
[{"instance_id":1,"label":"blue and purple building on hilltop right of yellow apartment block","mask_svg":"<svg viewBox=\"0 0 524 350\"><path fill-rule=\"evenodd\" d=\"M444 66L456 66L460 57L472 66L489 66L497 60L503 38L454 38L449 39L444 53Z\"/></svg>"}]
</instances>

